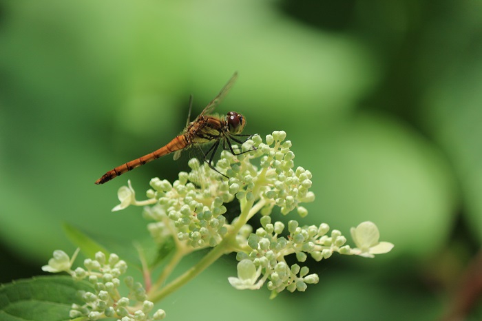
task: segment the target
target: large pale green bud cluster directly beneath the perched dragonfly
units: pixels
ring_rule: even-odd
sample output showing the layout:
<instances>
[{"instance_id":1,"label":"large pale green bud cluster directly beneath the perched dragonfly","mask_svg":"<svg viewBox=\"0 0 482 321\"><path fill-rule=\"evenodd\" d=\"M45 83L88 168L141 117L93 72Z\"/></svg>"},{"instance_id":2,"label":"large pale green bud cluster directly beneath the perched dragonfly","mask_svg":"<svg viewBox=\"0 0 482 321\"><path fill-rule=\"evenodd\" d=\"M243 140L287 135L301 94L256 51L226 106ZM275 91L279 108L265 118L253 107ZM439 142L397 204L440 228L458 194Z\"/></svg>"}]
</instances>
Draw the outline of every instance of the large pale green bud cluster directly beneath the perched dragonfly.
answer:
<instances>
[{"instance_id":1,"label":"large pale green bud cluster directly beneath the perched dragonfly","mask_svg":"<svg viewBox=\"0 0 482 321\"><path fill-rule=\"evenodd\" d=\"M311 172L302 167L293 169L295 155L290 150L291 141L285 138L286 133L280 131L267 135L266 143L255 135L241 147L233 145L237 155L223 151L215 170L193 158L188 163L191 172L181 172L173 184L153 178L144 201L135 199L129 183L129 187L119 189L121 204L113 210L128 205L153 205L145 207L144 215L154 220L148 226L154 239L162 242L172 236L183 245L198 249L218 245L235 229L223 215L227 211L224 204L234 198L241 207L251 204L244 224L258 211L271 214L275 206L285 215L296 209L300 216L306 216L308 212L300 203L315 199L313 192L308 191ZM260 158L258 166L254 165L255 158Z\"/></svg>"}]
</instances>

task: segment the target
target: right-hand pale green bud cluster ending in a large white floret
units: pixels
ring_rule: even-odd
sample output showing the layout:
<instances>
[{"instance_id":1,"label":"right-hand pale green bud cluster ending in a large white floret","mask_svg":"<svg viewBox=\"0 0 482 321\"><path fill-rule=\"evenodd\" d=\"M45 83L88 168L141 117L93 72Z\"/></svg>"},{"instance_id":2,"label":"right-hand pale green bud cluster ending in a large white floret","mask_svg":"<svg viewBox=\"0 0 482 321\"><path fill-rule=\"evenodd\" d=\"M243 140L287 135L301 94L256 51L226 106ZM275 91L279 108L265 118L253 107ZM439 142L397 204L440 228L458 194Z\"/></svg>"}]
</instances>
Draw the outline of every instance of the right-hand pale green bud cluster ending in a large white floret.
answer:
<instances>
[{"instance_id":1,"label":"right-hand pale green bud cluster ending in a large white floret","mask_svg":"<svg viewBox=\"0 0 482 321\"><path fill-rule=\"evenodd\" d=\"M325 223L299 227L297 221L290 220L286 238L280 236L285 228L283 222L272 224L270 216L263 216L261 223L262 227L245 240L244 248L248 250L238 252L238 278L231 277L229 282L236 289L260 289L269 280L267 286L272 297L284 289L305 291L307 284L319 281L317 274L308 275L308 267L297 264L289 267L285 257L290 254L294 254L298 262L305 262L308 255L320 261L330 258L333 252L373 258L373 254L387 253L393 247L390 242L379 242L379 231L373 222L362 222L351 229L359 247L355 249L345 245L346 238L337 229L328 236L330 227ZM247 231L249 229L244 230L245 235Z\"/></svg>"}]
</instances>

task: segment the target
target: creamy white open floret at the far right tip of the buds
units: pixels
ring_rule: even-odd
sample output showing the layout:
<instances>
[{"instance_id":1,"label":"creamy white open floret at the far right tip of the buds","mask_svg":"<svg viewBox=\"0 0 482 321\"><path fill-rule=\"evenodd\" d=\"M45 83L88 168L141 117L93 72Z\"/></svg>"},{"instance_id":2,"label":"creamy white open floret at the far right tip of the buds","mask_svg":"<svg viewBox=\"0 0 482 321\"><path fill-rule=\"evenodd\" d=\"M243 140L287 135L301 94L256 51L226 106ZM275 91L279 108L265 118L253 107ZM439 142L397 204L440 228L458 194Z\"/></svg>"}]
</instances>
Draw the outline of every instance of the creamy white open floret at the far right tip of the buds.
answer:
<instances>
[{"instance_id":1,"label":"creamy white open floret at the far right tip of the buds","mask_svg":"<svg viewBox=\"0 0 482 321\"><path fill-rule=\"evenodd\" d=\"M374 258L374 254L388 253L393 248L390 242L379 242L380 233L373 222L362 222L350 229L351 237L357 245L353 253L366 258Z\"/></svg>"}]
</instances>

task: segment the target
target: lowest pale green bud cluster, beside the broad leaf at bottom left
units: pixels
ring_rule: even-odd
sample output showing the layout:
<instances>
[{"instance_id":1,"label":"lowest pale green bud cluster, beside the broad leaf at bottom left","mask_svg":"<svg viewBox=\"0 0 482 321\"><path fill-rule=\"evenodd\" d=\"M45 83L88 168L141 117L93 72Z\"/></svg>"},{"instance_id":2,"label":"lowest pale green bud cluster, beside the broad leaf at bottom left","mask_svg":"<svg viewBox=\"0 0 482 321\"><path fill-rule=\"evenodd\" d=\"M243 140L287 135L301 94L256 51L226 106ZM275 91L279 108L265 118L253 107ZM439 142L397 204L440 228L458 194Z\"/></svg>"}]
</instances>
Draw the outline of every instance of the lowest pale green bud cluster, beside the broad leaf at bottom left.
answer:
<instances>
[{"instance_id":1,"label":"lowest pale green bud cluster, beside the broad leaf at bottom left","mask_svg":"<svg viewBox=\"0 0 482 321\"><path fill-rule=\"evenodd\" d=\"M84 267L72 270L72 263L78 253L74 253L72 260L63 251L54 251L54 257L48 265L42 267L43 271L65 271L76 280L88 280L94 288L93 292L81 291L83 305L72 304L70 318L87 318L87 320L99 320L101 318L118 318L122 321L134 320L161 320L165 318L165 312L157 310L152 316L149 312L154 308L154 303L146 299L145 290L139 282L134 282L130 276L124 279L129 289L128 296L121 296L118 287L121 285L119 277L127 271L124 260L111 253L107 259L101 251L95 254L94 260L84 260ZM135 302L130 306L131 301Z\"/></svg>"}]
</instances>

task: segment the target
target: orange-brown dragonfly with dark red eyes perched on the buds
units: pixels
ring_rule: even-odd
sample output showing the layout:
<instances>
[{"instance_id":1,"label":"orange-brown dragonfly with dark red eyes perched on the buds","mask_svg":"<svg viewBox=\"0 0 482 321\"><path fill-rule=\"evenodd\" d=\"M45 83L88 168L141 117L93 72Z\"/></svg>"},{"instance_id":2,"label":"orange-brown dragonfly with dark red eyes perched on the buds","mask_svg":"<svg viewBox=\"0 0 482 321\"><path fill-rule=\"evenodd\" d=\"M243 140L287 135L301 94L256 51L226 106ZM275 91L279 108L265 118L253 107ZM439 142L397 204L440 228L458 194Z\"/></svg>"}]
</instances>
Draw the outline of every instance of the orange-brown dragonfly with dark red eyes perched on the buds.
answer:
<instances>
[{"instance_id":1,"label":"orange-brown dragonfly with dark red eyes perched on the buds","mask_svg":"<svg viewBox=\"0 0 482 321\"><path fill-rule=\"evenodd\" d=\"M110 170L109 172L105 173L101 178L96 180L96 184L100 185L103 183L116 178L117 176L121 176L122 174L131 171L132 169L144 165L145 163L149 163L150 161L154 161L157 158L165 156L167 154L171 154L174 152L174 160L177 160L180 157L180 154L183 150L191 147L193 145L200 145L200 144L207 144L213 143L211 147L207 150L207 152L203 152L204 154L204 161L214 169L216 172L220 173L215 167L213 167L213 157L216 154L216 151L220 144L222 143L223 149L228 149L233 155L243 154L245 152L249 152L249 150L245 152L235 153L232 146L232 141L235 143L242 144L247 139L251 138L252 135L245 135L241 134L244 130L244 126L246 125L246 118L242 114L238 114L237 112L228 112L225 118L221 116L211 114L213 110L220 104L224 96L227 95L231 87L235 83L236 79L238 79L238 73L235 72L231 79L222 87L222 90L206 107L202 112L199 114L198 117L194 121L189 122L189 118L191 116L191 107L192 107L192 96L189 99L189 113L187 116L187 124L185 130L182 131L182 134L174 137L169 143L160 147L154 152L151 152L147 155L142 157L136 158L133 161L127 162L123 165L115 167L114 169ZM242 140L243 137L245 138L244 141ZM252 147L253 148L253 147ZM227 177L226 175L220 173L222 176Z\"/></svg>"}]
</instances>

